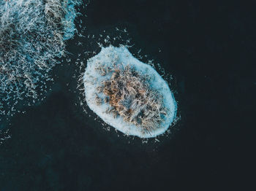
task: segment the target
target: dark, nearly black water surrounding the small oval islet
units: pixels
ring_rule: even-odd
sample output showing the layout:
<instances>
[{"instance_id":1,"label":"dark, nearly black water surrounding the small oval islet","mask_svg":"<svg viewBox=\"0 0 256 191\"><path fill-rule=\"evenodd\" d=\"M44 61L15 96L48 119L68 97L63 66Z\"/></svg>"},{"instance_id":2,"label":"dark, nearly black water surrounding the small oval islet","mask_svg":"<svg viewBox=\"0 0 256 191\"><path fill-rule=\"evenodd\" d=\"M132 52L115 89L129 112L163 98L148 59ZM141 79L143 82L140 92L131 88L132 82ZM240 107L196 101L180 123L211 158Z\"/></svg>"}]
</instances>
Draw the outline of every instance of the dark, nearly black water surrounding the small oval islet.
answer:
<instances>
[{"instance_id":1,"label":"dark, nearly black water surrounding the small oval islet","mask_svg":"<svg viewBox=\"0 0 256 191\"><path fill-rule=\"evenodd\" d=\"M131 52L141 49L145 61L161 63L173 74L181 120L171 135L148 144L102 129L79 106L76 89L75 61L99 52L97 38L75 36L67 47L72 62L53 69L45 101L10 121L12 138L0 147L0 190L254 190L255 6L91 1L81 9L82 34L110 35L114 45L130 38Z\"/></svg>"}]
</instances>

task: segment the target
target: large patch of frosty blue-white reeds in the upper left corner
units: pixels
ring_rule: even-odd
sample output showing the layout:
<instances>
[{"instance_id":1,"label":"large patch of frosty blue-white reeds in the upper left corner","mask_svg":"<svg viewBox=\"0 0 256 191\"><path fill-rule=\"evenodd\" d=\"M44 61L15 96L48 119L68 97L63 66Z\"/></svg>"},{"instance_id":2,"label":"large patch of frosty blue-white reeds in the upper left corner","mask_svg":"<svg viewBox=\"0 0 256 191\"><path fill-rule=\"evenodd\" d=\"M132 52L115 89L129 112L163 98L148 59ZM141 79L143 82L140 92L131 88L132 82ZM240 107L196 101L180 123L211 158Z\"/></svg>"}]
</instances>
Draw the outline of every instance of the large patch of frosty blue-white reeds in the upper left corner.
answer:
<instances>
[{"instance_id":1,"label":"large patch of frosty blue-white reeds in the upper left corner","mask_svg":"<svg viewBox=\"0 0 256 191\"><path fill-rule=\"evenodd\" d=\"M0 0L0 114L46 89L48 71L74 34L80 0ZM44 86L42 86L44 85ZM25 105L25 104L24 104ZM26 104L29 105L29 104ZM6 112L4 112L6 110ZM2 116L0 116L0 121Z\"/></svg>"}]
</instances>

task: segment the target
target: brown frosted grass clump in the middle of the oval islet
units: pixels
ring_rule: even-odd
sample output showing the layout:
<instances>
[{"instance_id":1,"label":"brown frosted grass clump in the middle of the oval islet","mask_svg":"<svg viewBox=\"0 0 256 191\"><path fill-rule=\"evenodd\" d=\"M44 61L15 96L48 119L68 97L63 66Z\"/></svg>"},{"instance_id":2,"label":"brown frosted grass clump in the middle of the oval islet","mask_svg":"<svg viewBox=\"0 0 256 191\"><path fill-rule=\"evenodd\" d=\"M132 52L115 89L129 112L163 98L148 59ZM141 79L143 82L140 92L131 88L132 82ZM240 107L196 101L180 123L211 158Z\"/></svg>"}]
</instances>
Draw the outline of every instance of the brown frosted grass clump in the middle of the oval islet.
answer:
<instances>
[{"instance_id":1,"label":"brown frosted grass clump in the middle of the oval islet","mask_svg":"<svg viewBox=\"0 0 256 191\"><path fill-rule=\"evenodd\" d=\"M97 70L103 69L98 66ZM110 79L97 87L98 92L107 96L104 101L111 106L107 112L114 117L120 115L124 121L146 132L159 128L167 110L162 95L151 88L150 77L129 65L123 69L116 67L111 72Z\"/></svg>"}]
</instances>

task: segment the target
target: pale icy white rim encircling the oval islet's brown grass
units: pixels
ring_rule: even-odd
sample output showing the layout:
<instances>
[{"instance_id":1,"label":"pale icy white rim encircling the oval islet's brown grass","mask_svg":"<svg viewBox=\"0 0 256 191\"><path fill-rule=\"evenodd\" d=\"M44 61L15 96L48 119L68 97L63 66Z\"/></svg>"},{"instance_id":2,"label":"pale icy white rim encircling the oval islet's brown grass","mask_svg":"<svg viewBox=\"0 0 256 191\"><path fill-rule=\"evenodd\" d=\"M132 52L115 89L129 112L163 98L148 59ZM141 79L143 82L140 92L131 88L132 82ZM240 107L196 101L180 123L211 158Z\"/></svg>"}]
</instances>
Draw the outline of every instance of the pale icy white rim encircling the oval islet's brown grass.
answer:
<instances>
[{"instance_id":1,"label":"pale icy white rim encircling the oval islet's brown grass","mask_svg":"<svg viewBox=\"0 0 256 191\"><path fill-rule=\"evenodd\" d=\"M164 98L164 105L167 108L167 115L165 116L164 122L162 122L161 127L157 128L150 133L143 133L140 128L124 122L122 117L118 116L113 117L113 114L107 114L106 110L110 108L109 104L97 105L95 102L95 93L97 93L96 87L102 81L110 79L111 74L101 76L98 71L94 68L99 64L105 66L115 66L118 64L123 64L123 66L130 65L133 66L137 71L140 71L142 74L149 74L152 79L150 85L154 90L158 90L159 93L162 93ZM159 136L170 127L173 120L176 118L177 104L173 93L170 91L170 87L167 85L164 79L157 73L155 69L149 66L146 63L142 63L137 58L133 57L132 54L127 50L127 47L102 47L101 52L95 55L93 58L90 58L87 61L86 72L83 76L83 83L85 87L86 102L89 108L97 114L102 120L104 120L108 125L113 126L117 130L125 133L129 136L138 136L140 138L151 138ZM103 93L97 93L100 98L105 98Z\"/></svg>"}]
</instances>

